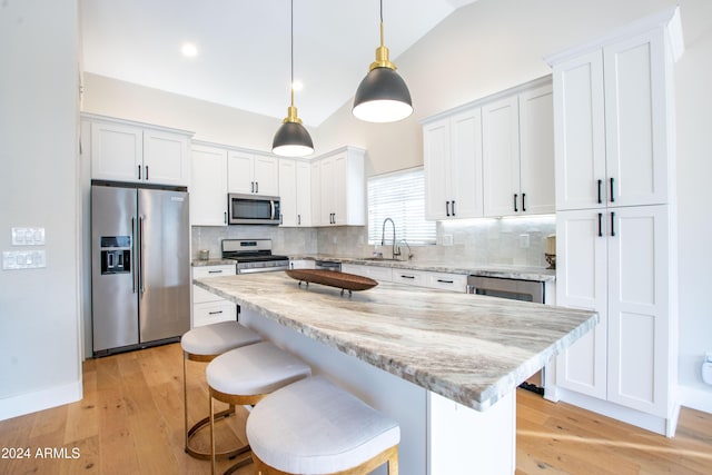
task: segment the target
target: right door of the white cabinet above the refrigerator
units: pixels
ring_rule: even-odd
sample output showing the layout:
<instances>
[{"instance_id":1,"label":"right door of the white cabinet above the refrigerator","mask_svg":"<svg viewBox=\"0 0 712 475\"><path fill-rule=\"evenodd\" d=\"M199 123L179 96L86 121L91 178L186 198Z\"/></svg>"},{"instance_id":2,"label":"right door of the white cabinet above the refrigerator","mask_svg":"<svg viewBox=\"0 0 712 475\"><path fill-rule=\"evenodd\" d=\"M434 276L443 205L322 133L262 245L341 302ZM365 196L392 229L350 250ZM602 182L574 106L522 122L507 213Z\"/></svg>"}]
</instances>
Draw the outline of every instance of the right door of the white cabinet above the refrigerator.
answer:
<instances>
[{"instance_id":1,"label":"right door of the white cabinet above the refrigerator","mask_svg":"<svg viewBox=\"0 0 712 475\"><path fill-rule=\"evenodd\" d=\"M144 181L187 186L190 182L188 137L158 130L144 131Z\"/></svg>"}]
</instances>

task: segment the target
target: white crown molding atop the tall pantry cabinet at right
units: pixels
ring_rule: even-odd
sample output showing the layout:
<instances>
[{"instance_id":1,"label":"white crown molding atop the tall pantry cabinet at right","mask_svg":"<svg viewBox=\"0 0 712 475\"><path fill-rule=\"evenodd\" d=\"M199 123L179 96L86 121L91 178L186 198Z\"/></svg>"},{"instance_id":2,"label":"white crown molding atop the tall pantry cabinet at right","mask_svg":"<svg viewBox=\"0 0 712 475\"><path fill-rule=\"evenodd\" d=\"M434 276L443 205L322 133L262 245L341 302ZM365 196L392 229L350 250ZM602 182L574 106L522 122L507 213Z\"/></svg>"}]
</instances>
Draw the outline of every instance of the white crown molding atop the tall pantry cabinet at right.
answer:
<instances>
[{"instance_id":1,"label":"white crown molding atop the tall pantry cabinet at right","mask_svg":"<svg viewBox=\"0 0 712 475\"><path fill-rule=\"evenodd\" d=\"M685 50L679 6L641 18L632 23L619 28L617 30L594 38L573 48L566 48L565 50L548 55L544 57L544 61L548 66L554 66L571 58L587 55L605 44L632 38L660 27L663 27L668 34L672 59L676 62Z\"/></svg>"}]
</instances>

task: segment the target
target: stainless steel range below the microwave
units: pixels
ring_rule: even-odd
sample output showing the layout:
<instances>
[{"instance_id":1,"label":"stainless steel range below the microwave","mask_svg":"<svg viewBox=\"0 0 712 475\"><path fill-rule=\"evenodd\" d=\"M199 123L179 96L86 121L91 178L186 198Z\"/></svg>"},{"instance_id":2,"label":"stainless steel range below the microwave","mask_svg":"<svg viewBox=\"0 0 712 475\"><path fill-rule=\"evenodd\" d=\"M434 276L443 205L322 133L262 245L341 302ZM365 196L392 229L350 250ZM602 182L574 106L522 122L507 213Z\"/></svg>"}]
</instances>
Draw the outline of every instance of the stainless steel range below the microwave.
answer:
<instances>
[{"instance_id":1,"label":"stainless steel range below the microwave","mask_svg":"<svg viewBox=\"0 0 712 475\"><path fill-rule=\"evenodd\" d=\"M289 257L271 254L271 239L222 239L222 258L237 261L237 274L289 268Z\"/></svg>"}]
</instances>

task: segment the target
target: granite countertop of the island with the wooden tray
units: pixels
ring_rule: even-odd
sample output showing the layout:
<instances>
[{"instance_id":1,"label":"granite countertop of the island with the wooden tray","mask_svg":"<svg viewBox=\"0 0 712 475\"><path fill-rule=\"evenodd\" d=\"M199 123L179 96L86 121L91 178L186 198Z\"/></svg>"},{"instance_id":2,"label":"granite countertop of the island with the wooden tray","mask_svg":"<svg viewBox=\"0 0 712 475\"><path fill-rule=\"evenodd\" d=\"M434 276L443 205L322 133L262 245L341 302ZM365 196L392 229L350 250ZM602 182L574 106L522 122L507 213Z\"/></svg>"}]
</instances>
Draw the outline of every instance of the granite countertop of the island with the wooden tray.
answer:
<instances>
[{"instance_id":1,"label":"granite countertop of the island with the wooden tray","mask_svg":"<svg viewBox=\"0 0 712 475\"><path fill-rule=\"evenodd\" d=\"M353 296L285 273L195 279L243 308L484 410L597 323L594 311L383 283Z\"/></svg>"}]
</instances>

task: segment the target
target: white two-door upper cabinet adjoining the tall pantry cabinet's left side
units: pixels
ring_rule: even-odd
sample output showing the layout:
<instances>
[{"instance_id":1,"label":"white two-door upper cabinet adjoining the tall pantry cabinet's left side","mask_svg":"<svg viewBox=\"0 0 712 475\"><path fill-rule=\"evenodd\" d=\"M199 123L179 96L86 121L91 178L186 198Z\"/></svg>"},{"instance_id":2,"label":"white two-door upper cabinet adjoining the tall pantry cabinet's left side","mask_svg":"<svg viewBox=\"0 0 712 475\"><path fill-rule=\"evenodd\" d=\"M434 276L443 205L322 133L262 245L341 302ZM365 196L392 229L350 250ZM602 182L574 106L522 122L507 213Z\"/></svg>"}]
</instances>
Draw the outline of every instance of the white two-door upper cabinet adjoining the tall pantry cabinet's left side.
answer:
<instances>
[{"instance_id":1,"label":"white two-door upper cabinet adjoining the tall pantry cabinet's left side","mask_svg":"<svg viewBox=\"0 0 712 475\"><path fill-rule=\"evenodd\" d=\"M484 216L554 212L552 87L482 106Z\"/></svg>"}]
</instances>

